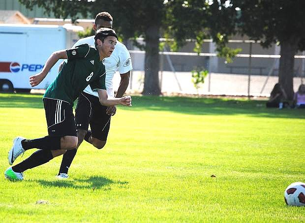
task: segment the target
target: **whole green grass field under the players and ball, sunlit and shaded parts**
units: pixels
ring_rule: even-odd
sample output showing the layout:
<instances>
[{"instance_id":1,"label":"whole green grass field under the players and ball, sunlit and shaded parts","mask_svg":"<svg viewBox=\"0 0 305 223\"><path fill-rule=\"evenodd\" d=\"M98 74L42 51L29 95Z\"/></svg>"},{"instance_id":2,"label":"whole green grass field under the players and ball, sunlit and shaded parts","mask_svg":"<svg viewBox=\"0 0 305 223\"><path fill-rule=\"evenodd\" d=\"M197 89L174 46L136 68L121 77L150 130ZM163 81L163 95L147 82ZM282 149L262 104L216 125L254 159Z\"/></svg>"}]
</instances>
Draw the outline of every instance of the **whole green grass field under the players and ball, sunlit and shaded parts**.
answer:
<instances>
[{"instance_id":1,"label":"whole green grass field under the players and ball, sunlit and shaded parts","mask_svg":"<svg viewBox=\"0 0 305 223\"><path fill-rule=\"evenodd\" d=\"M134 96L104 149L81 145L67 181L61 157L5 180L12 139L47 134L41 98L0 94L0 222L305 222L283 198L305 181L305 110Z\"/></svg>"}]
</instances>

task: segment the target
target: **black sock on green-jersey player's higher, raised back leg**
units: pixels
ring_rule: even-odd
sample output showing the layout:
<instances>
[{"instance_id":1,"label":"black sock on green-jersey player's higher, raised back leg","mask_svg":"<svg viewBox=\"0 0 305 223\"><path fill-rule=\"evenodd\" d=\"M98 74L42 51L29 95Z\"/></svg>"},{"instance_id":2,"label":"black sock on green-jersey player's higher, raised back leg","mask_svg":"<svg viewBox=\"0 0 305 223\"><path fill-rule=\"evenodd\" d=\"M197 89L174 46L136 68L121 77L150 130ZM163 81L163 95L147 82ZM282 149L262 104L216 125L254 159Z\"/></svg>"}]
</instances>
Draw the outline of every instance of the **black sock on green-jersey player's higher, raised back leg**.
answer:
<instances>
[{"instance_id":1,"label":"black sock on green-jersey player's higher, raised back leg","mask_svg":"<svg viewBox=\"0 0 305 223\"><path fill-rule=\"evenodd\" d=\"M60 150L61 149L61 137L45 136L37 139L25 139L21 142L24 150L33 148L41 150Z\"/></svg>"}]
</instances>

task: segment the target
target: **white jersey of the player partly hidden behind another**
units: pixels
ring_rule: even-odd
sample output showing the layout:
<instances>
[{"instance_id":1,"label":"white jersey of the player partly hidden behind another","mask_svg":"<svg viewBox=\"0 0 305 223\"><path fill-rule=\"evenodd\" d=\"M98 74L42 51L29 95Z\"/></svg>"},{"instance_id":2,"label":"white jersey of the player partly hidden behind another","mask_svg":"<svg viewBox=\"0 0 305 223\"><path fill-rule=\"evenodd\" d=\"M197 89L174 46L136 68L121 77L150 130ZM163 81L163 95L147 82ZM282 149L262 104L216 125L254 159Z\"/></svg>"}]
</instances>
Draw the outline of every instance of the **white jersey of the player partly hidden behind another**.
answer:
<instances>
[{"instance_id":1,"label":"white jersey of the player partly hidden behind another","mask_svg":"<svg viewBox=\"0 0 305 223\"><path fill-rule=\"evenodd\" d=\"M72 48L81 44L89 44L94 46L94 35L82 38L78 40ZM127 73L128 71L132 70L131 58L130 54L125 47L124 44L117 41L114 51L112 52L110 57L106 57L103 60L103 64L106 68L106 89L108 97L114 97L114 89L113 89L113 76L117 70L119 70L120 74ZM97 96L97 92L92 92L91 87L88 85L85 90L85 93Z\"/></svg>"}]
</instances>

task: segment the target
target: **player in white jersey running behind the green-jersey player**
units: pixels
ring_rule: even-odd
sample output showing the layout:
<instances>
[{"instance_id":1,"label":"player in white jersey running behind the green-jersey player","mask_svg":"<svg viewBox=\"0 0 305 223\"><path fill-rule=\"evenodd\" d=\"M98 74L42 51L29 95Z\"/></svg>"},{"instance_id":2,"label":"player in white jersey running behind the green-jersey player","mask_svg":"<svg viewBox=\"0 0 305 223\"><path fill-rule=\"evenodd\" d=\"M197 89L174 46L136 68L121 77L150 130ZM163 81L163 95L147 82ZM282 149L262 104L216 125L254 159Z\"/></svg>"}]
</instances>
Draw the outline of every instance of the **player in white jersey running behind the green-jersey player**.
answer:
<instances>
[{"instance_id":1,"label":"player in white jersey running behind the green-jersey player","mask_svg":"<svg viewBox=\"0 0 305 223\"><path fill-rule=\"evenodd\" d=\"M112 29L112 23L112 16L108 12L100 12L95 17L93 30L96 31L100 28ZM94 36L78 40L73 47L84 43L94 45ZM130 70L132 70L130 54L125 45L117 41L111 57L105 58L102 63L106 67L106 89L108 97L122 97L128 87ZM121 82L115 96L113 76L117 70L120 72ZM115 113L115 106L106 107L99 103L98 95L91 91L90 86L79 95L75 110L78 144L75 149L68 150L63 155L57 176L58 179L68 178L68 169L76 155L77 148L84 139L97 149L102 149L105 146L110 128L110 119ZM89 124L91 130L88 130Z\"/></svg>"}]
</instances>

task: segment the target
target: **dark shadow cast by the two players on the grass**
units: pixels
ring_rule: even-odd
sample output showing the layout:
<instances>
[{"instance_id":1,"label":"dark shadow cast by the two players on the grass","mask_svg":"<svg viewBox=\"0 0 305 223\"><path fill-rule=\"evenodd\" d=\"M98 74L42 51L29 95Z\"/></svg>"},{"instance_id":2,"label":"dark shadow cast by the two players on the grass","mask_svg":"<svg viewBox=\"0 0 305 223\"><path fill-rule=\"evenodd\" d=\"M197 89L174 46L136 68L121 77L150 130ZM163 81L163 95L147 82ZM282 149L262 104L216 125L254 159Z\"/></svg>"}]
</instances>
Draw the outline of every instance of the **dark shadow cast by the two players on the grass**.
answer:
<instances>
[{"instance_id":1,"label":"dark shadow cast by the two players on the grass","mask_svg":"<svg viewBox=\"0 0 305 223\"><path fill-rule=\"evenodd\" d=\"M126 181L113 181L106 177L101 176L91 176L89 179L73 179L71 180L56 180L56 181L46 181L46 180L36 180L44 187L59 187L59 188L75 188L75 189L104 189L110 190L109 186L113 184L126 185Z\"/></svg>"}]
</instances>

